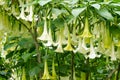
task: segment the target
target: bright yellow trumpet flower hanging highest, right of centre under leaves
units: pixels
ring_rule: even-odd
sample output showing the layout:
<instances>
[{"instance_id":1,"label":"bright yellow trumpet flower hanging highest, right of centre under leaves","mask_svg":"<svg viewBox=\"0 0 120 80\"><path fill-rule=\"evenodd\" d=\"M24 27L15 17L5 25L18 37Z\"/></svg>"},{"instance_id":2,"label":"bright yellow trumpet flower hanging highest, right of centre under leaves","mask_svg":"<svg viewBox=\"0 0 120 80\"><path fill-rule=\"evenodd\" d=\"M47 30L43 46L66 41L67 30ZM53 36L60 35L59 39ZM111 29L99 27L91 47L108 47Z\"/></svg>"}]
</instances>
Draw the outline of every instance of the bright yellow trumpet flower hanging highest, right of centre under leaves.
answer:
<instances>
[{"instance_id":1,"label":"bright yellow trumpet flower hanging highest, right of centre under leaves","mask_svg":"<svg viewBox=\"0 0 120 80\"><path fill-rule=\"evenodd\" d=\"M87 17L85 18L85 27L84 27L81 37L83 37L83 38L91 38L92 37L92 34L89 31L89 22L88 22Z\"/></svg>"}]
</instances>

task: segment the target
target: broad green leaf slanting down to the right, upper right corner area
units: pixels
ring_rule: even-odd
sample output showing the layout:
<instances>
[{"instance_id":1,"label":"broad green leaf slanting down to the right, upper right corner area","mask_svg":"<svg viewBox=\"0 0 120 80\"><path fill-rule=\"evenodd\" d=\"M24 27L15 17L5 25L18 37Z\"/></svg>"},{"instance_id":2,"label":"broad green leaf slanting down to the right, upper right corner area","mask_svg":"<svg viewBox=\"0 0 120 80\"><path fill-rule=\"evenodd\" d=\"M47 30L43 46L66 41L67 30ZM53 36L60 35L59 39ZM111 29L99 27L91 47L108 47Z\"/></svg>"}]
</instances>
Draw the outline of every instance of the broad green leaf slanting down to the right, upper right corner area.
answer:
<instances>
[{"instance_id":1,"label":"broad green leaf slanting down to the right, upper right corner area","mask_svg":"<svg viewBox=\"0 0 120 80\"><path fill-rule=\"evenodd\" d=\"M106 8L103 8L103 9L97 11L97 12L100 16L104 17L105 19L113 20L112 14Z\"/></svg>"}]
</instances>

